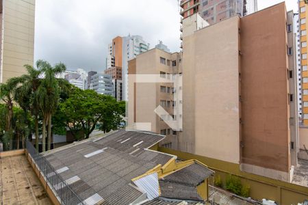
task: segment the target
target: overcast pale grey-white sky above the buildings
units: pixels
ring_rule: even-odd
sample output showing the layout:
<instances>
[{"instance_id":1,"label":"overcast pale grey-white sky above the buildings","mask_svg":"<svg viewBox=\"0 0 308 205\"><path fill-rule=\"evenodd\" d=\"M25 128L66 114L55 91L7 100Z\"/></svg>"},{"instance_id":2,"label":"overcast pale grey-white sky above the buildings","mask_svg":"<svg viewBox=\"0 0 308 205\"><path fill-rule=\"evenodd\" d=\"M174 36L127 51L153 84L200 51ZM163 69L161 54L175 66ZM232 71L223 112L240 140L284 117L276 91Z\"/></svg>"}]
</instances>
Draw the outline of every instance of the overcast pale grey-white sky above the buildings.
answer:
<instances>
[{"instance_id":1,"label":"overcast pale grey-white sky above the buildings","mask_svg":"<svg viewBox=\"0 0 308 205\"><path fill-rule=\"evenodd\" d=\"M258 0L258 8L279 2ZM296 0L286 5L297 12ZM116 36L140 35L151 48L162 40L179 51L179 20L177 0L36 0L34 59L103 72Z\"/></svg>"}]
</instances>

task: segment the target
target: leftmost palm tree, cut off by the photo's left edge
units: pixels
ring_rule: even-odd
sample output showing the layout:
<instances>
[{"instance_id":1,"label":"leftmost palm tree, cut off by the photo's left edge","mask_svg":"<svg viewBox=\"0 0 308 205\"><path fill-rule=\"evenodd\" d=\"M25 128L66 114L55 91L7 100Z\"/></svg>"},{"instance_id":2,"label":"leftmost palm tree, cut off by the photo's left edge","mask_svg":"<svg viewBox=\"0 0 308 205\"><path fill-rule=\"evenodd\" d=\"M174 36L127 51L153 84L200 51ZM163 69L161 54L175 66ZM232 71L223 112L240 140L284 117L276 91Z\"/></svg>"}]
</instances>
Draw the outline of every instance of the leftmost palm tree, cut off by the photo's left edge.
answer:
<instances>
[{"instance_id":1,"label":"leftmost palm tree, cut off by the photo's left edge","mask_svg":"<svg viewBox=\"0 0 308 205\"><path fill-rule=\"evenodd\" d=\"M14 105L14 92L18 85L18 78L14 77L9 79L6 83L0 84L0 100L5 103L6 109L6 124L5 124L5 137L10 139L10 149L12 149L13 141L13 105Z\"/></svg>"}]
</instances>

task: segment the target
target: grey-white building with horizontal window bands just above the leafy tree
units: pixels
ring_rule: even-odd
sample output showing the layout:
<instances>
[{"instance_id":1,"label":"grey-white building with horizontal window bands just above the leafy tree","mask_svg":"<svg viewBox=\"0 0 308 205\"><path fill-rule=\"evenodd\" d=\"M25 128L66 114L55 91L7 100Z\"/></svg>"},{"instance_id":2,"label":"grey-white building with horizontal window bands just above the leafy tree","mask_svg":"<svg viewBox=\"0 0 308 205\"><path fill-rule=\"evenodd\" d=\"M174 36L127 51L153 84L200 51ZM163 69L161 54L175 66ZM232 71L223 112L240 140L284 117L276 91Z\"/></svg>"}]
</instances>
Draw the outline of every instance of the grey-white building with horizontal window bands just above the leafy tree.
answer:
<instances>
[{"instance_id":1,"label":"grey-white building with horizontal window bands just above the leafy tree","mask_svg":"<svg viewBox=\"0 0 308 205\"><path fill-rule=\"evenodd\" d=\"M98 94L106 94L113 96L114 88L112 85L112 77L109 74L97 73L92 75L90 89Z\"/></svg>"}]
</instances>

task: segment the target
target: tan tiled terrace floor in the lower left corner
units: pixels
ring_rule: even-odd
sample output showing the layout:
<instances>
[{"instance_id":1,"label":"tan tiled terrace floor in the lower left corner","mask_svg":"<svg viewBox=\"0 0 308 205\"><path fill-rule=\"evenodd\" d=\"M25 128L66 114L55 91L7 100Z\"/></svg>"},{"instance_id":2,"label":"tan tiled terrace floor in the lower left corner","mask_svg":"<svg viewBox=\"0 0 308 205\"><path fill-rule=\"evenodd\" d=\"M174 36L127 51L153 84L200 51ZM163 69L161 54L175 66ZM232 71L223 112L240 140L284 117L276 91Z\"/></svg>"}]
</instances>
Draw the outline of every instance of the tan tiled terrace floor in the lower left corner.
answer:
<instances>
[{"instance_id":1,"label":"tan tiled terrace floor in the lower left corner","mask_svg":"<svg viewBox=\"0 0 308 205\"><path fill-rule=\"evenodd\" d=\"M0 204L52 204L25 155L0 159Z\"/></svg>"}]
</instances>

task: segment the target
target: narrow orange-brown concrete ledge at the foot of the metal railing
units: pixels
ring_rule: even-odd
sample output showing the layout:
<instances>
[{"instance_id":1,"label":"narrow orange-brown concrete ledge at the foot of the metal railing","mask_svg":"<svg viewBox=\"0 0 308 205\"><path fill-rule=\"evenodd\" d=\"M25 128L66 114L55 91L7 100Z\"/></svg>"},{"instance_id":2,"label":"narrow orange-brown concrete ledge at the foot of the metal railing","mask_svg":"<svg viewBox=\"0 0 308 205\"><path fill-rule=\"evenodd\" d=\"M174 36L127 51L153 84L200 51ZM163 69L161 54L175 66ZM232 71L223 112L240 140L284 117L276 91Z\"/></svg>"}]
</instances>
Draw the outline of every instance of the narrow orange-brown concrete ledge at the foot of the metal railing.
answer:
<instances>
[{"instance_id":1,"label":"narrow orange-brown concrete ledge at the foot of the metal railing","mask_svg":"<svg viewBox=\"0 0 308 205\"><path fill-rule=\"evenodd\" d=\"M32 160L31 155L27 152L27 150L24 151L25 155L27 156L27 160L29 161L31 167L33 168L34 172L36 173L36 176L38 176L38 179L40 180L42 187L44 187L49 200L55 205L60 205L59 200L57 199L57 196L55 193L53 193L53 190L48 186L47 181L45 180L44 176L40 174L40 170L38 167L36 167L36 163Z\"/></svg>"}]
</instances>

